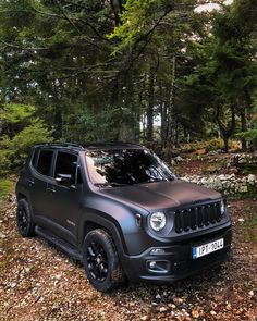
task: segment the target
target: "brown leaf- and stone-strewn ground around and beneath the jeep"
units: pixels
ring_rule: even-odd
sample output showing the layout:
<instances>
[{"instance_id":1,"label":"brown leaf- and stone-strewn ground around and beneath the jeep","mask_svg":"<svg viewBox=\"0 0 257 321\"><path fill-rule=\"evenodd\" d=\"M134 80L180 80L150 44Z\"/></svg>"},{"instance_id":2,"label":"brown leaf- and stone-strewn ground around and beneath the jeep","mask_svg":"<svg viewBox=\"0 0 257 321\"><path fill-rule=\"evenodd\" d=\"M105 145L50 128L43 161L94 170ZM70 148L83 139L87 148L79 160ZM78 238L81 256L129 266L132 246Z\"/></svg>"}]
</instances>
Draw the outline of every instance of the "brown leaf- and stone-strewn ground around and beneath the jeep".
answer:
<instances>
[{"instance_id":1,"label":"brown leaf- and stone-strewn ground around and beneath the jeep","mask_svg":"<svg viewBox=\"0 0 257 321\"><path fill-rule=\"evenodd\" d=\"M83 267L23 239L15 203L0 209L0 320L257 320L257 201L230 202L233 259L170 286L95 291Z\"/></svg>"}]
</instances>

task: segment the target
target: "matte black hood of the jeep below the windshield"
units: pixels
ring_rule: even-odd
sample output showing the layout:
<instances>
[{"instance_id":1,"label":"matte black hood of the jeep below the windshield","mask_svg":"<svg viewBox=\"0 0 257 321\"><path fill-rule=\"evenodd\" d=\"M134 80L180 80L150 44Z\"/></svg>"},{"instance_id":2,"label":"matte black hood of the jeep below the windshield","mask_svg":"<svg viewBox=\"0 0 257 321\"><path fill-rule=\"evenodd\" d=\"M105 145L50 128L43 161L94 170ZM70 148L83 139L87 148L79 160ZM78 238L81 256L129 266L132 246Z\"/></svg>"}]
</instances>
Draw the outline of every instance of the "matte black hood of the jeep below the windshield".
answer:
<instances>
[{"instance_id":1,"label":"matte black hood of the jeep below the windshield","mask_svg":"<svg viewBox=\"0 0 257 321\"><path fill-rule=\"evenodd\" d=\"M221 197L218 192L181 180L103 188L101 193L148 211L176 208Z\"/></svg>"}]
</instances>

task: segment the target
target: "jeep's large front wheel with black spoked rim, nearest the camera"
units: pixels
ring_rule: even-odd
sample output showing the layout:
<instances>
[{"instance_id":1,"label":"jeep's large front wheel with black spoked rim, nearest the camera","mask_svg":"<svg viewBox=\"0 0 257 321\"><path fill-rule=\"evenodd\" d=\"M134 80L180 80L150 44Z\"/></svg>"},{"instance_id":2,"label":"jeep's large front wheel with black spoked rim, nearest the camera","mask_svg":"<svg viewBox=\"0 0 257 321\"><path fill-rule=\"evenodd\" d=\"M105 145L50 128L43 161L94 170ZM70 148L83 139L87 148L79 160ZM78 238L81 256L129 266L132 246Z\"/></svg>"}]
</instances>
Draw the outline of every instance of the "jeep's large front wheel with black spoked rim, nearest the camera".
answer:
<instances>
[{"instance_id":1,"label":"jeep's large front wheel with black spoked rim, nearest the camera","mask_svg":"<svg viewBox=\"0 0 257 321\"><path fill-rule=\"evenodd\" d=\"M97 291L110 292L124 281L113 240L105 230L97 229L86 235L83 263L90 284Z\"/></svg>"}]
</instances>

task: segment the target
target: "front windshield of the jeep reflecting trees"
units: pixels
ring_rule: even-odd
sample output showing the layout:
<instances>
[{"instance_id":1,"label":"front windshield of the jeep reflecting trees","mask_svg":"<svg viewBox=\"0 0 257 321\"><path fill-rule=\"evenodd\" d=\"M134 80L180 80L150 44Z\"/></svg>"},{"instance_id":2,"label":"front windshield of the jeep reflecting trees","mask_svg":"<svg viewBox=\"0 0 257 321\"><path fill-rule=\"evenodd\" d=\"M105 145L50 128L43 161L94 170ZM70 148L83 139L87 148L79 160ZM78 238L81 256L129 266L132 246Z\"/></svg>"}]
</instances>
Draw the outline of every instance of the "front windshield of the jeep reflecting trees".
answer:
<instances>
[{"instance_id":1,"label":"front windshield of the jeep reflecting trees","mask_svg":"<svg viewBox=\"0 0 257 321\"><path fill-rule=\"evenodd\" d=\"M174 180L168 166L146 149L88 151L86 163L95 185L118 186Z\"/></svg>"}]
</instances>

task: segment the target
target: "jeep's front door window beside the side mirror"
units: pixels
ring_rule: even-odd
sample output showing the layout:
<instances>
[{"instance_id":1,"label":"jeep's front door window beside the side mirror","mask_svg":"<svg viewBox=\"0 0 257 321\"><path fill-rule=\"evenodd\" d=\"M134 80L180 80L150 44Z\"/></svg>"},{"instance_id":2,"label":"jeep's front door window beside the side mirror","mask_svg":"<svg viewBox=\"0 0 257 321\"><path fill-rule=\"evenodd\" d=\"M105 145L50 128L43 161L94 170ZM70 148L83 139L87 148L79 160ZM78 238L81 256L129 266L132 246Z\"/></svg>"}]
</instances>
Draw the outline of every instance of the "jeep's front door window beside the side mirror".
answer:
<instances>
[{"instance_id":1,"label":"jeep's front door window beside the side mirror","mask_svg":"<svg viewBox=\"0 0 257 321\"><path fill-rule=\"evenodd\" d=\"M77 156L73 153L59 151L56 162L54 177L58 174L70 174L72 175L72 184L76 181L76 168L77 168Z\"/></svg>"}]
</instances>

